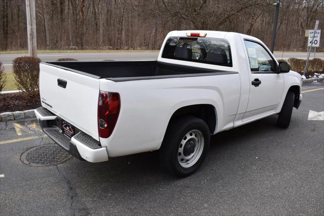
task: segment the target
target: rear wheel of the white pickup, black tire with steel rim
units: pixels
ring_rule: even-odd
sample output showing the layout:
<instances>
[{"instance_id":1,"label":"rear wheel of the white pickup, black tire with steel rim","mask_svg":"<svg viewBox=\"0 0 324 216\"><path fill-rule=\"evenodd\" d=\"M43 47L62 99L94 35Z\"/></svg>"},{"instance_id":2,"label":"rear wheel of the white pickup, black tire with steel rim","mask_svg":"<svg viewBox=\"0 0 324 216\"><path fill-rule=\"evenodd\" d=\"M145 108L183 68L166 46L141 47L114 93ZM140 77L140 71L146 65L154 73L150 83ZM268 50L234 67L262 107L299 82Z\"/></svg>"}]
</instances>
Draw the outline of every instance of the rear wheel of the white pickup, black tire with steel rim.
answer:
<instances>
[{"instance_id":1,"label":"rear wheel of the white pickup, black tire with steel rim","mask_svg":"<svg viewBox=\"0 0 324 216\"><path fill-rule=\"evenodd\" d=\"M190 132L193 132L193 134ZM189 136L188 139L185 138L187 135ZM201 138L201 136L203 137ZM200 140L200 142L198 140ZM181 142L184 142L184 145L182 145ZM209 149L209 142L210 131L205 121L193 116L174 119L168 126L159 151L160 165L165 170L180 177L191 175L205 160ZM191 145L192 143L195 144ZM193 158L190 159L190 163L193 164L190 165L188 163L190 165L189 167L184 167L187 166L187 164L184 163L186 161L180 163L180 160L184 159L180 158L181 150L183 157L193 155ZM189 154L186 155L185 153Z\"/></svg>"}]
</instances>

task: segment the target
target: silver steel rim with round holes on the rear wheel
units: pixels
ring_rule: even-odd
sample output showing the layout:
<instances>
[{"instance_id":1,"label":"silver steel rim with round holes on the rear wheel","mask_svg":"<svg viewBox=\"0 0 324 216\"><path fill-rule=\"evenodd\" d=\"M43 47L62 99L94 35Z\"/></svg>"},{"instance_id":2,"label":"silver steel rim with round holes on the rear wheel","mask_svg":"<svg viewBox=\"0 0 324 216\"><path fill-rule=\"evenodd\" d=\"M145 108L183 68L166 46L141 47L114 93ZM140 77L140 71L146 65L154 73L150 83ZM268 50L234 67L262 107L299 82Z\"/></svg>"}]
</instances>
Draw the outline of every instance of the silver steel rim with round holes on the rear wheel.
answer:
<instances>
[{"instance_id":1,"label":"silver steel rim with round holes on the rear wheel","mask_svg":"<svg viewBox=\"0 0 324 216\"><path fill-rule=\"evenodd\" d=\"M186 155L189 147L191 147L190 150L192 151L192 143L194 143L194 150ZM204 135L200 130L191 130L186 133L178 146L179 164L185 168L194 165L203 153L204 145Z\"/></svg>"}]
</instances>

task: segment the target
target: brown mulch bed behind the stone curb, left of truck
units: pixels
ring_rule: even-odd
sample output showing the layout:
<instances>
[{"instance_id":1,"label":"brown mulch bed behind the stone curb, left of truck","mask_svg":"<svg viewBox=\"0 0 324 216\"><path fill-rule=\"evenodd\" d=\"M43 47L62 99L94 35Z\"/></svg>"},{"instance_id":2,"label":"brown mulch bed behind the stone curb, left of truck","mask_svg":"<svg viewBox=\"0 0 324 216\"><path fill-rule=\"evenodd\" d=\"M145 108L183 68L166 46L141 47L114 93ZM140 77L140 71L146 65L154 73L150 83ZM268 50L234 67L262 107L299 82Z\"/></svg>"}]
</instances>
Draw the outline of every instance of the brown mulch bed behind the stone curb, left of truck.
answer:
<instances>
[{"instance_id":1,"label":"brown mulch bed behind the stone curb, left of truck","mask_svg":"<svg viewBox=\"0 0 324 216\"><path fill-rule=\"evenodd\" d=\"M24 93L0 94L0 113L32 110L41 105L39 95L28 97Z\"/></svg>"}]
</instances>

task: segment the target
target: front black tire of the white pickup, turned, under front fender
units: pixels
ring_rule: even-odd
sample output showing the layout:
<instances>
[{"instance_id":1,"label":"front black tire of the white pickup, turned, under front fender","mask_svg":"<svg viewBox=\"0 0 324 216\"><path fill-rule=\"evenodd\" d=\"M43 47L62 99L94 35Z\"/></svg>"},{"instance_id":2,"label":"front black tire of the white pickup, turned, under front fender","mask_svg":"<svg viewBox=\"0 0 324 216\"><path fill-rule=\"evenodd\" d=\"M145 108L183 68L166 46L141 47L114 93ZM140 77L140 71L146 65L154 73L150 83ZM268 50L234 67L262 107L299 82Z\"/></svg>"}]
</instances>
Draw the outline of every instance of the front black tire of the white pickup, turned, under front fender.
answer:
<instances>
[{"instance_id":1,"label":"front black tire of the white pickup, turned, under front fender","mask_svg":"<svg viewBox=\"0 0 324 216\"><path fill-rule=\"evenodd\" d=\"M288 128L292 117L295 94L288 92L278 116L277 125L281 128Z\"/></svg>"}]
</instances>

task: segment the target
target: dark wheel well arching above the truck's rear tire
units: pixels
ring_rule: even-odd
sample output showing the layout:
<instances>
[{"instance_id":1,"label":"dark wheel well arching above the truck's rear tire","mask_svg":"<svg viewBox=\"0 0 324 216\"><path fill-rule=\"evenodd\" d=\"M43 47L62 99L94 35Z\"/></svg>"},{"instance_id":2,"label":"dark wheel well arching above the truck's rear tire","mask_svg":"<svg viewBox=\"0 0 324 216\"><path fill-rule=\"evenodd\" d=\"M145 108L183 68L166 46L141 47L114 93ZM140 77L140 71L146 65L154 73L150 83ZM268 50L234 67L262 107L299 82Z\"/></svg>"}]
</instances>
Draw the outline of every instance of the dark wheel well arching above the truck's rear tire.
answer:
<instances>
[{"instance_id":1,"label":"dark wheel well arching above the truck's rear tire","mask_svg":"<svg viewBox=\"0 0 324 216\"><path fill-rule=\"evenodd\" d=\"M183 106L179 108L171 117L170 122L173 119L179 118L181 116L192 115L206 122L209 127L211 134L214 133L216 129L216 109L211 104L195 104L189 106Z\"/></svg>"}]
</instances>

